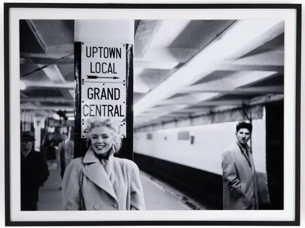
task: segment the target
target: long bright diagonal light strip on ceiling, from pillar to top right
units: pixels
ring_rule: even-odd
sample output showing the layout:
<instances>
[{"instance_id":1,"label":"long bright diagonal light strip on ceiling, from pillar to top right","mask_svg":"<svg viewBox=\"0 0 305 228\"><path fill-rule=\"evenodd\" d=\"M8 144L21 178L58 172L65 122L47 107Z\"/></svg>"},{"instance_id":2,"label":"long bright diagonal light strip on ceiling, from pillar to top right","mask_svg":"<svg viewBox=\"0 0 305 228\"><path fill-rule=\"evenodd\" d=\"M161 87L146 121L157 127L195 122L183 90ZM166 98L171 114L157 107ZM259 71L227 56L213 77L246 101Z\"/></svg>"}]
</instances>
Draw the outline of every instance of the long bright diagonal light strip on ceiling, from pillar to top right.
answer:
<instances>
[{"instance_id":1,"label":"long bright diagonal light strip on ceiling, from pillar to top right","mask_svg":"<svg viewBox=\"0 0 305 228\"><path fill-rule=\"evenodd\" d=\"M282 22L282 20L240 20L236 22L232 28L221 35L220 39L200 51L191 61L139 100L134 105L134 116L138 116L147 108L156 105L158 101L175 94L182 86L188 86L204 75L210 74L222 60L236 51L252 45L254 40Z\"/></svg>"}]
</instances>

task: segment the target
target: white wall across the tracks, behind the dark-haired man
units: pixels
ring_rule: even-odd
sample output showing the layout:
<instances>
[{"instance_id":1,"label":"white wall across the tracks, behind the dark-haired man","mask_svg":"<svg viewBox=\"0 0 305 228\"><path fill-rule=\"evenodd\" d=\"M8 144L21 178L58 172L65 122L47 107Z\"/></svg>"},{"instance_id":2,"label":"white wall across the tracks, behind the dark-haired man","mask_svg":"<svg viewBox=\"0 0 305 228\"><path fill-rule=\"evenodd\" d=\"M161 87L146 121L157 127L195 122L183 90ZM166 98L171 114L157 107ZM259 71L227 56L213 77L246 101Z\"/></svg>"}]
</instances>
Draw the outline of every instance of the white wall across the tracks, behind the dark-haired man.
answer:
<instances>
[{"instance_id":1,"label":"white wall across the tracks, behind the dark-haired man","mask_svg":"<svg viewBox=\"0 0 305 228\"><path fill-rule=\"evenodd\" d=\"M222 175L221 156L235 140L238 122L171 128L134 135L134 152ZM257 171L266 171L266 123L253 120L252 151ZM188 131L190 140L178 140L178 132ZM147 139L147 134L152 139ZM250 141L249 141L250 144Z\"/></svg>"}]
</instances>

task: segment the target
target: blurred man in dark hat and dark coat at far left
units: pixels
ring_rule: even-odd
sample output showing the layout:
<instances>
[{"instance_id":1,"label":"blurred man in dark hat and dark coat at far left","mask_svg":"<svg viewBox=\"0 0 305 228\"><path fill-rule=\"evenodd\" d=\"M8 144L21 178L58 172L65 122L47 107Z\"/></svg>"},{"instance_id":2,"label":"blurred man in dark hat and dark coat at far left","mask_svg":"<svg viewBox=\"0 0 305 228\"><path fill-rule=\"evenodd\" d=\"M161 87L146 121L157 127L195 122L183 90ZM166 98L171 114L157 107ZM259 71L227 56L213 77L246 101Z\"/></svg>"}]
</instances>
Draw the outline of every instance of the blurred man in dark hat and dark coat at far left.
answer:
<instances>
[{"instance_id":1,"label":"blurred man in dark hat and dark coat at far left","mask_svg":"<svg viewBox=\"0 0 305 228\"><path fill-rule=\"evenodd\" d=\"M48 179L48 165L40 152L34 150L31 131L21 133L21 211L37 211L38 191Z\"/></svg>"}]
</instances>

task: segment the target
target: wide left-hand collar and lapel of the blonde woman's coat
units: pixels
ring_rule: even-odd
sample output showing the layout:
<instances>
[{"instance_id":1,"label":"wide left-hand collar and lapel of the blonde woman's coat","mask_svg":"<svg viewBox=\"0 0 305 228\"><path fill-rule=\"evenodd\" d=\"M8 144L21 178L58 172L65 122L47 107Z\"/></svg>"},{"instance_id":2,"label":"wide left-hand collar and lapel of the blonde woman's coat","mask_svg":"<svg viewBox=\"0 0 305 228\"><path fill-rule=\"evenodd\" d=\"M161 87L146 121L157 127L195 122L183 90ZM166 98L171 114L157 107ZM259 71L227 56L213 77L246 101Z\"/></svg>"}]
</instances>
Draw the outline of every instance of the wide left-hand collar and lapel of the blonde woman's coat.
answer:
<instances>
[{"instance_id":1,"label":"wide left-hand collar and lapel of the blonde woman's coat","mask_svg":"<svg viewBox=\"0 0 305 228\"><path fill-rule=\"evenodd\" d=\"M84 164L88 164L83 168L84 175L88 177L93 183L95 183L95 185L99 186L101 189L106 191L110 196L117 200L109 177L91 148L84 156L83 162Z\"/></svg>"}]
</instances>

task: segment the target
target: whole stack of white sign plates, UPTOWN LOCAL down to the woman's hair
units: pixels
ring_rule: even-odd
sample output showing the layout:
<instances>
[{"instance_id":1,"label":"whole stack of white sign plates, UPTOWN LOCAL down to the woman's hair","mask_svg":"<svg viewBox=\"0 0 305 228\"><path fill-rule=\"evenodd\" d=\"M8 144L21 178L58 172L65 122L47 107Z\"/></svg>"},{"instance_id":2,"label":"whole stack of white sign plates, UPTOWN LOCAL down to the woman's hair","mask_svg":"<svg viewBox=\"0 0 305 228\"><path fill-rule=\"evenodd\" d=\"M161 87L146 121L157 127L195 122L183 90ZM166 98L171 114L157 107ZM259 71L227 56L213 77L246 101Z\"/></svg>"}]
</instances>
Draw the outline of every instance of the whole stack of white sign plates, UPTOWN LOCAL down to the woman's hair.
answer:
<instances>
[{"instance_id":1,"label":"whole stack of white sign plates, UPTOWN LOCAL down to the woman's hair","mask_svg":"<svg viewBox=\"0 0 305 228\"><path fill-rule=\"evenodd\" d=\"M82 42L81 49L81 138L86 138L88 118L126 121L126 45ZM121 134L126 136L126 124Z\"/></svg>"}]
</instances>

